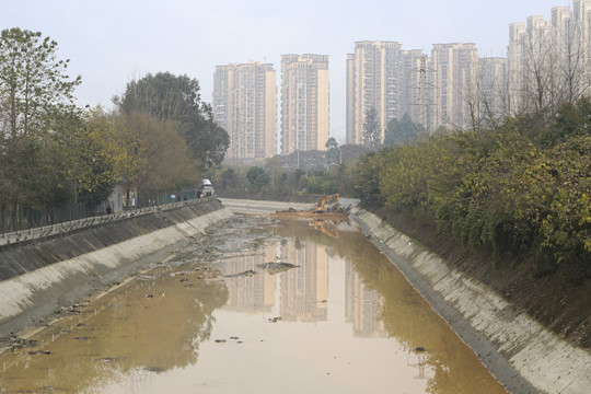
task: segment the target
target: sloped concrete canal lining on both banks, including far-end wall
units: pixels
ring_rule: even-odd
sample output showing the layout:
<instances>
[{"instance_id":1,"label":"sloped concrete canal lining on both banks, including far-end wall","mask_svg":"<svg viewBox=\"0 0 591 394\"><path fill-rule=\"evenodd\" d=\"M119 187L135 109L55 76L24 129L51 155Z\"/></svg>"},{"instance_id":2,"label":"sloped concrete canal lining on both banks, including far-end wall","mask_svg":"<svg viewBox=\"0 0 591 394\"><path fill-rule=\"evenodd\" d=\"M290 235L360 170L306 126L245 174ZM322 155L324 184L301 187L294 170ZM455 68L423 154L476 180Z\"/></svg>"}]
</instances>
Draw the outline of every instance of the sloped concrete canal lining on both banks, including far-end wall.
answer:
<instances>
[{"instance_id":1,"label":"sloped concrete canal lining on both banks, including far-end wall","mask_svg":"<svg viewBox=\"0 0 591 394\"><path fill-rule=\"evenodd\" d=\"M306 204L216 198L165 212L0 247L0 336L30 326L93 287L162 262L210 224L235 212L266 213ZM486 286L364 210L354 219L491 373L513 393L584 393L591 355L561 340Z\"/></svg>"}]
</instances>

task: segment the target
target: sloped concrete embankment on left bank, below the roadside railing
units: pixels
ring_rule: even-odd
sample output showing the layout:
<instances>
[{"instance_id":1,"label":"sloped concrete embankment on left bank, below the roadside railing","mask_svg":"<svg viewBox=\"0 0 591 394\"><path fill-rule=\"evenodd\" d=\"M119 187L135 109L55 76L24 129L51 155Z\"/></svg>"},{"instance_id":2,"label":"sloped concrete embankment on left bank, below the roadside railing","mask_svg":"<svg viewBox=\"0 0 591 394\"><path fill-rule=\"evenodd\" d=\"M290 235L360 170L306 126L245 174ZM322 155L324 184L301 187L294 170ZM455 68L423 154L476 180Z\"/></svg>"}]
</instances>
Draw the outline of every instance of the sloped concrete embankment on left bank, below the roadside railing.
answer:
<instances>
[{"instance_id":1,"label":"sloped concrete embankment on left bank, below the roadside railing","mask_svg":"<svg viewBox=\"0 0 591 394\"><path fill-rule=\"evenodd\" d=\"M233 213L215 198L73 233L0 247L0 336L205 233Z\"/></svg>"}]
</instances>

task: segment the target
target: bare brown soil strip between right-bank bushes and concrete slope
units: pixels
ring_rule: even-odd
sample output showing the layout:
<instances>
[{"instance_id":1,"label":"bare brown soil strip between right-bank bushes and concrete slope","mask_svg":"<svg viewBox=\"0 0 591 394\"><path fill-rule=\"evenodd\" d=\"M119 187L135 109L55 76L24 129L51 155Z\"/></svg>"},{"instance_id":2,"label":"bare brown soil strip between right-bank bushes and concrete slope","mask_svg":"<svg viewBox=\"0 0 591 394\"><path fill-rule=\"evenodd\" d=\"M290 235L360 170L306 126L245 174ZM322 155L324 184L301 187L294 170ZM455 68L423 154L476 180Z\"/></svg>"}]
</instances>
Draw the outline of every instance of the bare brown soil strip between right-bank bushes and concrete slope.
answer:
<instances>
[{"instance_id":1,"label":"bare brown soil strip between right-bank bushes and concrete slope","mask_svg":"<svg viewBox=\"0 0 591 394\"><path fill-rule=\"evenodd\" d=\"M560 271L542 275L535 262L473 253L439 231L428 215L375 209L393 228L422 243L471 277L490 286L519 309L573 345L591 348L591 279L569 285Z\"/></svg>"}]
</instances>

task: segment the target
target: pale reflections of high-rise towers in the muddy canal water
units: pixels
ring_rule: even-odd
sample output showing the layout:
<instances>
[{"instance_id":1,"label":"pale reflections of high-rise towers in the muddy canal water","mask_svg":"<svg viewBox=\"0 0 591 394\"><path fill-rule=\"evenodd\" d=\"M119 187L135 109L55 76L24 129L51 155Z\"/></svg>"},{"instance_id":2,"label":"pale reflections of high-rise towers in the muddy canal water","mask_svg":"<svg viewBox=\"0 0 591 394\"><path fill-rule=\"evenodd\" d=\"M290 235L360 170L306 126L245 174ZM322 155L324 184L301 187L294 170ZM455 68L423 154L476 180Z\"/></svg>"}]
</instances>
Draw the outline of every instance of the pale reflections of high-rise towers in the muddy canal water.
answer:
<instances>
[{"instance_id":1,"label":"pale reflections of high-rise towers in the muddy canal water","mask_svg":"<svg viewBox=\"0 0 591 394\"><path fill-rule=\"evenodd\" d=\"M270 275L259 265L289 263L297 268ZM383 298L366 286L350 262L345 268L345 318L357 337L387 337L380 318ZM288 237L266 244L260 253L231 258L222 268L232 276L224 308L247 314L275 311L287 322L323 322L328 317L329 256L327 246ZM278 309L277 309L278 308Z\"/></svg>"}]
</instances>

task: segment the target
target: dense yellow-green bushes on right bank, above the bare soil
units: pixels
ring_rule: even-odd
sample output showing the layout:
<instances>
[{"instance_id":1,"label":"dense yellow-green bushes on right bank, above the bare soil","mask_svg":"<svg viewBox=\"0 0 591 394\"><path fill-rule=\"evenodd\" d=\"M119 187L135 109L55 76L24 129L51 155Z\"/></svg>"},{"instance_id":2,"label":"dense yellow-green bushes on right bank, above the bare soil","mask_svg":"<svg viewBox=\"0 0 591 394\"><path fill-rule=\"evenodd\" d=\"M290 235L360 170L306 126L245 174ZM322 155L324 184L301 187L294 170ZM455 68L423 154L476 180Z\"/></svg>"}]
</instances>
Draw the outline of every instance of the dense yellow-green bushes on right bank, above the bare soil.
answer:
<instances>
[{"instance_id":1,"label":"dense yellow-green bushes on right bank, above the bare soil","mask_svg":"<svg viewBox=\"0 0 591 394\"><path fill-rule=\"evenodd\" d=\"M498 128L436 134L354 165L367 205L430 213L466 247L591 276L591 102Z\"/></svg>"}]
</instances>

